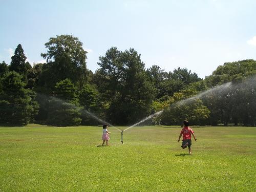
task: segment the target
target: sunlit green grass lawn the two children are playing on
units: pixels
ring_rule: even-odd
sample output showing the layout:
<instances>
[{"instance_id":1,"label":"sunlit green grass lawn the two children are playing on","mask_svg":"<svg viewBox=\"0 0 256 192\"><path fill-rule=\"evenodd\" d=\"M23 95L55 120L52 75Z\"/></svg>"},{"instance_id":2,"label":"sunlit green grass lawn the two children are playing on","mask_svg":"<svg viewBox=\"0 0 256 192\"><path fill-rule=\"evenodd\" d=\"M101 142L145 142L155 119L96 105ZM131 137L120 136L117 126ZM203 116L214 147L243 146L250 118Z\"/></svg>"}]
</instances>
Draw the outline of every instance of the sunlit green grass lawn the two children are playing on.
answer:
<instances>
[{"instance_id":1,"label":"sunlit green grass lawn the two children are playing on","mask_svg":"<svg viewBox=\"0 0 256 192\"><path fill-rule=\"evenodd\" d=\"M119 127L122 129L123 127ZM0 191L256 191L256 127L0 127Z\"/></svg>"}]
</instances>

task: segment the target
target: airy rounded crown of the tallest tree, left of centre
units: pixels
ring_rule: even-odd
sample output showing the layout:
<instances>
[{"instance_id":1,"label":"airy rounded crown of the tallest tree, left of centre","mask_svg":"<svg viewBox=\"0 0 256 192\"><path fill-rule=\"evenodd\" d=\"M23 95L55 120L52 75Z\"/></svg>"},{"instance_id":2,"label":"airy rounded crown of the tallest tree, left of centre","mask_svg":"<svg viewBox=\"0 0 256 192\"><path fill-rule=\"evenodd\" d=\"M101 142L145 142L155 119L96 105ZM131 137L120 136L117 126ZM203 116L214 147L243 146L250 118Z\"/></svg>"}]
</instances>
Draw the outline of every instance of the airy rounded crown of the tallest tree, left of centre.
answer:
<instances>
[{"instance_id":1,"label":"airy rounded crown of the tallest tree, left of centre","mask_svg":"<svg viewBox=\"0 0 256 192\"><path fill-rule=\"evenodd\" d=\"M41 56L47 60L48 65L44 76L46 84L52 81L49 86L54 88L56 82L69 78L81 88L87 80L88 73L87 51L83 50L82 42L72 35L58 35L51 37L45 46L48 51L41 53Z\"/></svg>"}]
</instances>

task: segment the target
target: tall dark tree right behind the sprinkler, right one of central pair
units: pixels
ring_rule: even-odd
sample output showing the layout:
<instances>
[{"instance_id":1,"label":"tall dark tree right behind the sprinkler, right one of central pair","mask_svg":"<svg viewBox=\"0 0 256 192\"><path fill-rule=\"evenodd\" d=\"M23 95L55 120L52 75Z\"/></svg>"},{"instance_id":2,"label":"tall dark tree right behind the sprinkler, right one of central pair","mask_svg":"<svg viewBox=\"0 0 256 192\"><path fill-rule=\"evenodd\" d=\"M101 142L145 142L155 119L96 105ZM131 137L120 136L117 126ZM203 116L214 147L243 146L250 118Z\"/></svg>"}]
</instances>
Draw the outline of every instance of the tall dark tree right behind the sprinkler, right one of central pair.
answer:
<instances>
[{"instance_id":1,"label":"tall dark tree right behind the sprinkler, right one of central pair","mask_svg":"<svg viewBox=\"0 0 256 192\"><path fill-rule=\"evenodd\" d=\"M151 104L155 98L156 90L145 72L145 64L140 59L140 54L134 49L125 50L122 54L124 63L124 89L121 99L121 113L113 110L114 114L123 117L126 123L134 123L151 112Z\"/></svg>"}]
</instances>

